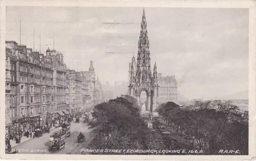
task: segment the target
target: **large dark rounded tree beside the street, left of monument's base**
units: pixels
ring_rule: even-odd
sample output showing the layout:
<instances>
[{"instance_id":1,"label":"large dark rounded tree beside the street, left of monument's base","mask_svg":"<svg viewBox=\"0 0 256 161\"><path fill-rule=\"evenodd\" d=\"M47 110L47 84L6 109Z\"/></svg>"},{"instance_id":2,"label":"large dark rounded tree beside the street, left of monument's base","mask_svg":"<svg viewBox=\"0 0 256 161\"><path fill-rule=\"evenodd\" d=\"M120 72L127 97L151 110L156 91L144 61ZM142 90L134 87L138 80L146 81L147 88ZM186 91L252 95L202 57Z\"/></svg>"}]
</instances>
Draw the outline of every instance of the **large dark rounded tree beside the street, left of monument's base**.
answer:
<instances>
[{"instance_id":1,"label":"large dark rounded tree beside the street, left of monument's base","mask_svg":"<svg viewBox=\"0 0 256 161\"><path fill-rule=\"evenodd\" d=\"M89 123L89 128L93 128L91 134L94 135L92 147L102 147L102 143L116 148L131 146L147 129L139 116L136 101L127 96L96 105L92 116L95 118Z\"/></svg>"}]
</instances>

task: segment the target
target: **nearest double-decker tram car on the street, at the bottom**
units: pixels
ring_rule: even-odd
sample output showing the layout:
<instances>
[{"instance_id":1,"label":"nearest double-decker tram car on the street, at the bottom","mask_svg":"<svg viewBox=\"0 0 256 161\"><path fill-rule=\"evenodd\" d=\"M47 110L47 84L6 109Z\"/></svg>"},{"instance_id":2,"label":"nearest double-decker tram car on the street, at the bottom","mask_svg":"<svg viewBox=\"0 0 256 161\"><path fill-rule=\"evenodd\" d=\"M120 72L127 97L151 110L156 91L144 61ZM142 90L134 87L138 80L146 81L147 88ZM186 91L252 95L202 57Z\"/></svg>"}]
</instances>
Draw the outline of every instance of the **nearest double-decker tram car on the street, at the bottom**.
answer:
<instances>
[{"instance_id":1,"label":"nearest double-decker tram car on the street, at the bottom","mask_svg":"<svg viewBox=\"0 0 256 161\"><path fill-rule=\"evenodd\" d=\"M50 153L58 153L66 145L66 133L65 130L62 130L62 127L59 127L59 131L50 135Z\"/></svg>"}]
</instances>

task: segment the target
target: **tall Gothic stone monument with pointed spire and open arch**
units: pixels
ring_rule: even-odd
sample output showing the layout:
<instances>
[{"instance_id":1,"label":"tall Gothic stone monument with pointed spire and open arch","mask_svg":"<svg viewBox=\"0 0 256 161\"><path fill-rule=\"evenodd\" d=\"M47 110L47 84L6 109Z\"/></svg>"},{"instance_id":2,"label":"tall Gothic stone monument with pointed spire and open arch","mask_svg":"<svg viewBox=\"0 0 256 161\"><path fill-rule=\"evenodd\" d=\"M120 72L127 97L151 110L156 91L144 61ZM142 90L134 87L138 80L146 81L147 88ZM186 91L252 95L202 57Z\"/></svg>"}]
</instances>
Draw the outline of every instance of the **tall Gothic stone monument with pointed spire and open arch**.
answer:
<instances>
[{"instance_id":1,"label":"tall Gothic stone monument with pointed spire and open arch","mask_svg":"<svg viewBox=\"0 0 256 161\"><path fill-rule=\"evenodd\" d=\"M142 91L146 92L146 109L142 109L145 114L158 108L158 79L157 68L154 63L153 73L151 73L150 51L148 31L146 29L146 16L143 9L140 37L138 40L138 57L132 57L129 64L129 95L136 98L140 104L140 95Z\"/></svg>"}]
</instances>

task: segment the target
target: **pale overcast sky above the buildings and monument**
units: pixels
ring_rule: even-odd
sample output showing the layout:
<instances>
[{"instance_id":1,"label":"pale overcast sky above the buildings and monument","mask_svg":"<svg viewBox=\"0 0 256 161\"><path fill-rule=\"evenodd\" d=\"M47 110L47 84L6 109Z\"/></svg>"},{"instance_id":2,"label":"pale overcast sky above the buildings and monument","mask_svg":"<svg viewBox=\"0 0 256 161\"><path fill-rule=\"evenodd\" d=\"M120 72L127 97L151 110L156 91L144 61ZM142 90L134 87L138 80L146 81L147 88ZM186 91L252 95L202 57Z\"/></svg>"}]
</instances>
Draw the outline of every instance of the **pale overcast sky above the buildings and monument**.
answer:
<instances>
[{"instance_id":1,"label":"pale overcast sky above the buildings and monument","mask_svg":"<svg viewBox=\"0 0 256 161\"><path fill-rule=\"evenodd\" d=\"M6 40L41 52L64 54L70 69L128 81L128 63L137 58L143 8L7 7ZM178 92L189 99L248 90L248 10L145 8L151 64L162 76L175 75ZM73 59L73 63L72 63ZM73 64L73 65L72 65ZM153 67L151 67L153 70Z\"/></svg>"}]
</instances>

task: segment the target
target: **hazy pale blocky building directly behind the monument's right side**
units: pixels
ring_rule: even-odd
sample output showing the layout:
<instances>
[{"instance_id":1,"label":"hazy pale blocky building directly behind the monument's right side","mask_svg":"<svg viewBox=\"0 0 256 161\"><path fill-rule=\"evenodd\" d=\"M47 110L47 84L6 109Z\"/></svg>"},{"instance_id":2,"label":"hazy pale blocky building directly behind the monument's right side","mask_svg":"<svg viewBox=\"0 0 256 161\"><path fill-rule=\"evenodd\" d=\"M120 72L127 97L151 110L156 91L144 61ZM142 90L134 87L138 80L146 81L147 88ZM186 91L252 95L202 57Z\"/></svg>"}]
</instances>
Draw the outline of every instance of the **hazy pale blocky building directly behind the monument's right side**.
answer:
<instances>
[{"instance_id":1,"label":"hazy pale blocky building directly behind the monument's right side","mask_svg":"<svg viewBox=\"0 0 256 161\"><path fill-rule=\"evenodd\" d=\"M158 73L158 102L175 102L177 103L177 81L174 76L162 77L162 73Z\"/></svg>"}]
</instances>

